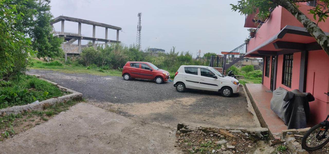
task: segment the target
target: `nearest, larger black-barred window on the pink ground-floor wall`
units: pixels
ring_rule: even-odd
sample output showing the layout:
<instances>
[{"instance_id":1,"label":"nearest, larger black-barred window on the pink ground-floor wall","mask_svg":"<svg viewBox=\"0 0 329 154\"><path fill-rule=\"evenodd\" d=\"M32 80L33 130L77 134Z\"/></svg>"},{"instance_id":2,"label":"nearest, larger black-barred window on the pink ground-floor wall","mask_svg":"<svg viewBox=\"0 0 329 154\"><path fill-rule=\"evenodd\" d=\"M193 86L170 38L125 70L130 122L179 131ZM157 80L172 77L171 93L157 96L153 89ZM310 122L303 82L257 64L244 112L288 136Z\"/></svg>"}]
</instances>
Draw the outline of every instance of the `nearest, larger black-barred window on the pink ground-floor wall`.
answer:
<instances>
[{"instance_id":1,"label":"nearest, larger black-barred window on the pink ground-floor wall","mask_svg":"<svg viewBox=\"0 0 329 154\"><path fill-rule=\"evenodd\" d=\"M291 88L293 54L283 55L282 84Z\"/></svg>"}]
</instances>

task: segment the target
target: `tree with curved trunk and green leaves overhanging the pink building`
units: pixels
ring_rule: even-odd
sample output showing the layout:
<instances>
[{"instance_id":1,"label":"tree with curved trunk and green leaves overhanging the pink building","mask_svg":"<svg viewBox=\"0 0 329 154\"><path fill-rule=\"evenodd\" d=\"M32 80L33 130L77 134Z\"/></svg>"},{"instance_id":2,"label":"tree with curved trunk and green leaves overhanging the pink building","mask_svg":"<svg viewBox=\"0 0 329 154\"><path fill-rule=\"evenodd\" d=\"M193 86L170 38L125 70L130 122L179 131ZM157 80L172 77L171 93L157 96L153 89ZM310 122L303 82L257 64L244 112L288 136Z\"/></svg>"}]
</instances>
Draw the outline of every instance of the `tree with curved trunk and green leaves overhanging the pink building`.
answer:
<instances>
[{"instance_id":1,"label":"tree with curved trunk and green leaves overhanging the pink building","mask_svg":"<svg viewBox=\"0 0 329 154\"><path fill-rule=\"evenodd\" d=\"M298 2L310 2L312 0L239 0L237 5L230 4L233 11L239 11L241 14L252 14L259 11L259 16L268 16L269 8L282 6L287 9L296 19L306 28L329 56L329 37L317 25L329 16L329 0L320 0L321 4L309 10L317 23L313 23L303 12L298 9Z\"/></svg>"}]
</instances>

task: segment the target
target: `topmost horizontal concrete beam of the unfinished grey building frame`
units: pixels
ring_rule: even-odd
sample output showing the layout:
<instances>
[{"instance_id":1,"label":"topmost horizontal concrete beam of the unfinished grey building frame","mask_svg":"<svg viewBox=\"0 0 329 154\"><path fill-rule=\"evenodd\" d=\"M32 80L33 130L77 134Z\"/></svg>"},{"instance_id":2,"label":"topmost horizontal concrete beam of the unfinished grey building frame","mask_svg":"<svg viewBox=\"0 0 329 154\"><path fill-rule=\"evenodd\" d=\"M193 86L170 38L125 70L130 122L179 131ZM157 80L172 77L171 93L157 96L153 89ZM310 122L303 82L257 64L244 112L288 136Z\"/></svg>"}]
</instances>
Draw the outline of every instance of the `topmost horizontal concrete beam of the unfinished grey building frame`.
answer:
<instances>
[{"instance_id":1,"label":"topmost horizontal concrete beam of the unfinished grey building frame","mask_svg":"<svg viewBox=\"0 0 329 154\"><path fill-rule=\"evenodd\" d=\"M95 25L95 26L110 28L110 29L114 29L114 30L121 30L121 27L116 27L116 26L112 26L112 25L108 25L108 24L104 24L104 23L99 23L99 22L94 22L94 21L84 20L84 19L79 19L79 18L73 18L73 17L63 16L63 15L54 18L54 20L52 22L50 22L50 24L57 23L61 20L72 21L72 22L81 22L83 24Z\"/></svg>"}]
</instances>

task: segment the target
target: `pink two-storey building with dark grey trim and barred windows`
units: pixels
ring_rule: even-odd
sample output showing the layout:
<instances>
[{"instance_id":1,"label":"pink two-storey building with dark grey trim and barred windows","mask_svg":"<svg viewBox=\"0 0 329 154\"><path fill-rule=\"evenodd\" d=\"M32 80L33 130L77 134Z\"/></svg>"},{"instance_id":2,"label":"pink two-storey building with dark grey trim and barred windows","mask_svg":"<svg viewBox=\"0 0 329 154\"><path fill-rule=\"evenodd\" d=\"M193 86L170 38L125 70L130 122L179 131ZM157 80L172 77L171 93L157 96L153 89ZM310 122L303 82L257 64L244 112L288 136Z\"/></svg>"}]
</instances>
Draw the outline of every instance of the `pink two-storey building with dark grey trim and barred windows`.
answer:
<instances>
[{"instance_id":1,"label":"pink two-storey building with dark grey trim and barred windows","mask_svg":"<svg viewBox=\"0 0 329 154\"><path fill-rule=\"evenodd\" d=\"M314 4L304 2L299 5L298 9L316 22L313 15L308 14ZM244 27L256 28L253 18L254 14L247 15ZM329 35L328 21L318 25ZM329 97L324 94L329 91L329 56L290 12L281 6L273 9L268 20L258 26L255 37L250 39L246 48L244 56L264 58L261 88L273 91L283 87L309 92L315 97L315 101L310 102L310 124L325 119L329 114ZM248 87L251 85L246 86L252 93L253 89ZM254 97L262 96L252 97L255 100ZM269 106L270 98L258 100L265 101L258 103Z\"/></svg>"}]
</instances>

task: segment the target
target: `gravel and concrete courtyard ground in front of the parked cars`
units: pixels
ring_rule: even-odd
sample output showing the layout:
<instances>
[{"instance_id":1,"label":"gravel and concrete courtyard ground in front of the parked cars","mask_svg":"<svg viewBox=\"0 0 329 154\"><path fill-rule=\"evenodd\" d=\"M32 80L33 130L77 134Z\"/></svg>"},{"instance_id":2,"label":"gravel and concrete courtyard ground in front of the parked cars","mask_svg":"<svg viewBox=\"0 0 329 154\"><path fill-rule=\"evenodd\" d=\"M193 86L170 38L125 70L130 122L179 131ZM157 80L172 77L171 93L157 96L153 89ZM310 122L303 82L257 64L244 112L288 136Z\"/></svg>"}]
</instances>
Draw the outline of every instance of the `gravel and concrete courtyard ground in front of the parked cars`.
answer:
<instances>
[{"instance_id":1,"label":"gravel and concrete courtyard ground in front of the parked cars","mask_svg":"<svg viewBox=\"0 0 329 154\"><path fill-rule=\"evenodd\" d=\"M176 126L181 121L214 127L260 127L243 89L225 98L199 90L178 93L172 82L125 81L122 77L49 70L29 73L81 92L87 102L1 143L0 149L6 153L181 153L174 147Z\"/></svg>"}]
</instances>

